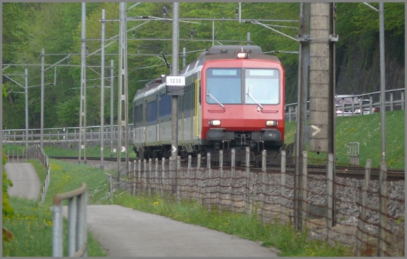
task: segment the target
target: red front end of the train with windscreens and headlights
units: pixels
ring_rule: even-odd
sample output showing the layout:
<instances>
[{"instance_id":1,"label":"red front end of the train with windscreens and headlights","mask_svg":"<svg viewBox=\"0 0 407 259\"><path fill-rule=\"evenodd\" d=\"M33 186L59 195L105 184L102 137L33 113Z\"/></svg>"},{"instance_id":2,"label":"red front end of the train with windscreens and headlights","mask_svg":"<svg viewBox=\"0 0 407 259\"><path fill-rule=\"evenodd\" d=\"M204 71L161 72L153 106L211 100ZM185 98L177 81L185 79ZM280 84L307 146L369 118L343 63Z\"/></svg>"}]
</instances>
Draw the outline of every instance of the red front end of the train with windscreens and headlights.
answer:
<instances>
[{"instance_id":1,"label":"red front end of the train with windscreens and headlights","mask_svg":"<svg viewBox=\"0 0 407 259\"><path fill-rule=\"evenodd\" d=\"M207 152L284 143L284 70L258 46L214 46L201 69L201 137ZM270 152L269 152L270 154Z\"/></svg>"}]
</instances>

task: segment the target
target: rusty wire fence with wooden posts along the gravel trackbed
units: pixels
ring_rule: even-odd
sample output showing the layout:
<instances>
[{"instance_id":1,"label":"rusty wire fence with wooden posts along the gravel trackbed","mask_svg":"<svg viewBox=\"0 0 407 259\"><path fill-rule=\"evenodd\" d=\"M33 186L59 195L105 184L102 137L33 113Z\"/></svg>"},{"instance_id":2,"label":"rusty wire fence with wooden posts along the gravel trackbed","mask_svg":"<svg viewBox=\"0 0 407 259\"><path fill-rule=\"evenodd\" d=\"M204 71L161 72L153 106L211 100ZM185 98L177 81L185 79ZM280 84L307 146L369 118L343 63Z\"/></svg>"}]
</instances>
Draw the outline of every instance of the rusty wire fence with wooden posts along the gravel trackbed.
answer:
<instances>
[{"instance_id":1,"label":"rusty wire fence with wooden posts along the gravel trackbed","mask_svg":"<svg viewBox=\"0 0 407 259\"><path fill-rule=\"evenodd\" d=\"M208 210L253 214L268 224L300 225L310 238L339 242L359 256L404 255L404 181L387 180L385 163L380 179L371 180L370 160L365 178L358 179L334 177L333 158L325 161L323 174L308 171L310 161L305 160L296 176L296 158L284 151L277 157L264 151L258 168L247 154L237 166L234 155L220 152L216 161L210 154L177 161L134 160L126 179L113 183L110 177L106 186L112 186L109 192L196 200ZM231 158L223 162L226 157ZM281 166L269 161L281 161Z\"/></svg>"}]
</instances>

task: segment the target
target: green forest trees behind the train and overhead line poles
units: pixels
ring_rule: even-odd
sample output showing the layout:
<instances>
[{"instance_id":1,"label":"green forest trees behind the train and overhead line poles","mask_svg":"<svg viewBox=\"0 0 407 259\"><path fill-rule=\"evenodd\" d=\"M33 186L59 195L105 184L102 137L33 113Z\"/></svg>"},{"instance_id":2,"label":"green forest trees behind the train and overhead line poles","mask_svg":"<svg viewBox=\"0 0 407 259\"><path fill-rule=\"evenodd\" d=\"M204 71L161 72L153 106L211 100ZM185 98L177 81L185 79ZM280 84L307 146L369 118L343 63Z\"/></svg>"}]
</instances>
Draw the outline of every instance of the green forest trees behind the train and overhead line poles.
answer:
<instances>
[{"instance_id":1,"label":"green forest trees behind the train and overhead line poles","mask_svg":"<svg viewBox=\"0 0 407 259\"><path fill-rule=\"evenodd\" d=\"M127 8L135 3L127 3ZM379 9L378 3L371 6ZM77 127L79 125L80 98L80 52L81 52L81 3L2 3L3 6L3 68L5 64L37 64L26 66L28 69L28 86L41 83L41 49L45 49L45 64L54 64L68 53L71 55L69 64L77 67L58 67L45 72L44 93L44 127ZM258 25L241 22L236 16L238 3L205 3L181 2L180 18L214 18L215 45L246 45L247 33L250 32L253 45L260 46L264 52L277 55L285 69L285 101L297 102L298 84L298 42L275 33ZM127 11L127 17L154 16L172 17L172 3L141 2ZM106 10L106 19L119 18L119 3L86 3L86 41L88 53L101 47L101 14ZM404 35L405 35L405 3L385 3L385 64L386 89L404 88ZM241 4L242 20L270 19L262 23L276 30L296 37L298 35L300 15L299 3L252 3ZM221 18L233 21L216 20ZM278 21L281 20L281 21ZM288 21L294 20L294 21ZM128 21L127 29L145 21ZM187 51L186 64L196 60L203 49L212 46L211 20L196 21L199 23L180 22L180 52ZM111 39L119 34L119 22L106 22L105 38ZM191 31L194 31L191 37ZM363 3L336 3L336 93L362 94L380 91L380 51L379 51L379 13ZM172 21L150 21L130 30L128 38L128 93L129 105L136 91L161 74L169 70L157 56L166 55L172 61ZM99 40L98 40L99 39ZM106 52L106 66L114 61L114 122L117 123L118 99L118 36L116 42L109 45ZM200 41L201 40L201 41ZM210 41L202 41L210 40ZM106 41L106 45L112 40ZM227 41L241 41L227 42ZM274 51L274 52L272 52ZM276 52L279 51L279 52ZM288 52L285 52L288 51ZM154 55L135 55L135 54ZM66 54L66 55L63 55ZM100 66L101 56L92 55L86 59L88 66ZM67 64L67 62L63 62ZM182 69L182 58L180 58ZM3 74L23 74L24 66L10 66ZM100 68L86 70L86 125L100 125ZM106 69L105 76L110 76ZM23 76L10 76L24 85ZM25 97L17 93L24 90L12 80L3 76L3 128L25 128ZM51 85L48 83L54 83ZM110 83L105 81L105 86ZM40 87L28 90L28 127L40 128ZM110 122L110 90L105 90L105 125ZM132 108L129 107L129 112ZM130 114L130 117L131 114Z\"/></svg>"}]
</instances>

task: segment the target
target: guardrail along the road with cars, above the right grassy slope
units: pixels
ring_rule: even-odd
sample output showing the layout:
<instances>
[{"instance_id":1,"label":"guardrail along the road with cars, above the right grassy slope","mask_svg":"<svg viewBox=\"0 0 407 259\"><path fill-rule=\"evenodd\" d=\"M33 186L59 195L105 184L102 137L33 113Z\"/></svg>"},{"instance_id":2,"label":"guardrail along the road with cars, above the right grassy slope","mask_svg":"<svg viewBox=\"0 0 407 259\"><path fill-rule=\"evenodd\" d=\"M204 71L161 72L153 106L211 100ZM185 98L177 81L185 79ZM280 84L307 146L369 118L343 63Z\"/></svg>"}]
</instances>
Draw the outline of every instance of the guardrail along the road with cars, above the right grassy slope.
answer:
<instances>
[{"instance_id":1,"label":"guardrail along the road with cars, above the right grassy slope","mask_svg":"<svg viewBox=\"0 0 407 259\"><path fill-rule=\"evenodd\" d=\"M393 89L386 91L386 110L404 110L404 91L405 88ZM356 96L359 100L363 100L359 104L354 105L343 105L341 107L342 113L344 110L352 110L352 116L361 115L356 113L355 110L360 109L369 109L370 111L373 108L380 108L380 92L372 92L367 94L353 95ZM309 101L307 102L307 115L309 115ZM285 105L285 119L287 121L295 121L297 114L297 103L289 103Z\"/></svg>"}]
</instances>

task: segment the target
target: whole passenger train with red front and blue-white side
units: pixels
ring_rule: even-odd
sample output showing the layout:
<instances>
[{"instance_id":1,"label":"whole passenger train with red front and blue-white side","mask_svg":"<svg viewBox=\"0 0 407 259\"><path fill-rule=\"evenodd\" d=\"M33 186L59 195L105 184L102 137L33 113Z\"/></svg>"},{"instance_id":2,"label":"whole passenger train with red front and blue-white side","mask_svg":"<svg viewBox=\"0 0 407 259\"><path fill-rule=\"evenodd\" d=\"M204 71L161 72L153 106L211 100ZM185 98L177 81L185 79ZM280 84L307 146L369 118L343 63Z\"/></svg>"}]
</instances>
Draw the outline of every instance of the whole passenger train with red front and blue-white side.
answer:
<instances>
[{"instance_id":1,"label":"whole passenger train with red front and blue-white side","mask_svg":"<svg viewBox=\"0 0 407 259\"><path fill-rule=\"evenodd\" d=\"M227 154L252 161L284 145L285 72L277 56L256 45L215 45L183 68L178 97L178 155ZM133 150L138 158L171 156L171 103L162 75L134 96ZM224 161L230 159L226 156ZM259 158L260 157L260 158Z\"/></svg>"}]
</instances>

